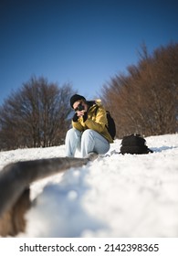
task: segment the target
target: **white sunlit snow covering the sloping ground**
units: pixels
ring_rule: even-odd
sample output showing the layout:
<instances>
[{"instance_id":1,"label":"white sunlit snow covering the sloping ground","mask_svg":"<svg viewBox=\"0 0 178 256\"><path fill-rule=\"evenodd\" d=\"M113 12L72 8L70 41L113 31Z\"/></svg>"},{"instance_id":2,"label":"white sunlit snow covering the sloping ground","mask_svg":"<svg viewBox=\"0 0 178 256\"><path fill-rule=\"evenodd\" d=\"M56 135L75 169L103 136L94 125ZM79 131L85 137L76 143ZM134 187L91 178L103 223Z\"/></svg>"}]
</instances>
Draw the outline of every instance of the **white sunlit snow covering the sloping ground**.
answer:
<instances>
[{"instance_id":1,"label":"white sunlit snow covering the sloping ground","mask_svg":"<svg viewBox=\"0 0 178 256\"><path fill-rule=\"evenodd\" d=\"M178 134L146 142L153 154L119 155L115 140L94 162L32 184L37 203L18 237L178 237ZM0 152L0 169L58 156L65 145Z\"/></svg>"}]
</instances>

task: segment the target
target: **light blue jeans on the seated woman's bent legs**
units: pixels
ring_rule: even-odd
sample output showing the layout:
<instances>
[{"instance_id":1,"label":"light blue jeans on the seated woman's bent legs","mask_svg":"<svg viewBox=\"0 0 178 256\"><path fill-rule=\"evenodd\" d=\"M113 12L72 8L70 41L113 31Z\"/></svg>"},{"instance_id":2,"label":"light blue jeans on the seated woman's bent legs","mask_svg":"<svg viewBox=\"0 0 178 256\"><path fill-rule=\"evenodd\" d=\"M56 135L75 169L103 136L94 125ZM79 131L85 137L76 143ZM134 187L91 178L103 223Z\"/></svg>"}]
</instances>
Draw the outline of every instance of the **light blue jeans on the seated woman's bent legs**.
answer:
<instances>
[{"instance_id":1,"label":"light blue jeans on the seated woman's bent legs","mask_svg":"<svg viewBox=\"0 0 178 256\"><path fill-rule=\"evenodd\" d=\"M81 152L82 157L91 152L103 155L109 151L110 143L99 133L91 129L81 133L79 130L72 128L66 134L66 156L75 156L77 149Z\"/></svg>"}]
</instances>

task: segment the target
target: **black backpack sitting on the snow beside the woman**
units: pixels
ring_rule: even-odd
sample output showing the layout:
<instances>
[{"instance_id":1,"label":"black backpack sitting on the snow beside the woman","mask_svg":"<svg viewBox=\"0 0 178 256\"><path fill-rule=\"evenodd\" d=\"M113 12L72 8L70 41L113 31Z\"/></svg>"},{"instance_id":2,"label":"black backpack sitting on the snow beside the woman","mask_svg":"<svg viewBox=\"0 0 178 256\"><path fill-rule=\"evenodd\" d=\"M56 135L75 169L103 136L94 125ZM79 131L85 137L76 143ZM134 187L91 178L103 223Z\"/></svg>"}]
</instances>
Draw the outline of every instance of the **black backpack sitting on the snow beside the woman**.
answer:
<instances>
[{"instance_id":1,"label":"black backpack sitting on the snow beside the woman","mask_svg":"<svg viewBox=\"0 0 178 256\"><path fill-rule=\"evenodd\" d=\"M124 136L121 141L120 153L124 154L148 154L152 150L146 145L146 140L140 134Z\"/></svg>"}]
</instances>

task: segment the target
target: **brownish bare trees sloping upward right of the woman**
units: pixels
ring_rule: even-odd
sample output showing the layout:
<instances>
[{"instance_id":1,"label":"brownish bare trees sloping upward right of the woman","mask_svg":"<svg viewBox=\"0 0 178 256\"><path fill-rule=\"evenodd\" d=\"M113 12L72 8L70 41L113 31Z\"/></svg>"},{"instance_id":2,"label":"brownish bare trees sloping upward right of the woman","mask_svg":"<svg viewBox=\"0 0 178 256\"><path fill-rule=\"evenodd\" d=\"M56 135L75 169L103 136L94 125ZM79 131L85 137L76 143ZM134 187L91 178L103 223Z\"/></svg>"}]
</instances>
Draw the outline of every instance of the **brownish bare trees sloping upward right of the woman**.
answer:
<instances>
[{"instance_id":1,"label":"brownish bare trees sloping upward right of the woman","mask_svg":"<svg viewBox=\"0 0 178 256\"><path fill-rule=\"evenodd\" d=\"M117 137L178 132L178 44L157 48L152 55L142 45L137 65L111 78L102 88Z\"/></svg>"}]
</instances>

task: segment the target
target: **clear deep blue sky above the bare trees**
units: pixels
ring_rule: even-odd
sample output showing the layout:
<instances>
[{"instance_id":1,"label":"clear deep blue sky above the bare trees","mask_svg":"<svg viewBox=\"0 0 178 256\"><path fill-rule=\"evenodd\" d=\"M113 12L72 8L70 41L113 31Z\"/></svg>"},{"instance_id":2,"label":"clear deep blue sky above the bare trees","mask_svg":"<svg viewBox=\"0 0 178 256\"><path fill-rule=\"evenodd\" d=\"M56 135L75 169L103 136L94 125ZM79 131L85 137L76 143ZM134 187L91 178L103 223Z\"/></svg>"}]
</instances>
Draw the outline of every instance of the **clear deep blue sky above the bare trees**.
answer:
<instances>
[{"instance_id":1,"label":"clear deep blue sky above the bare trees","mask_svg":"<svg viewBox=\"0 0 178 256\"><path fill-rule=\"evenodd\" d=\"M178 42L176 0L2 0L0 103L31 76L88 99L138 61L144 42Z\"/></svg>"}]
</instances>

